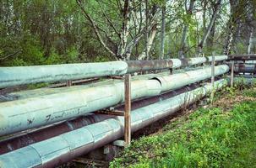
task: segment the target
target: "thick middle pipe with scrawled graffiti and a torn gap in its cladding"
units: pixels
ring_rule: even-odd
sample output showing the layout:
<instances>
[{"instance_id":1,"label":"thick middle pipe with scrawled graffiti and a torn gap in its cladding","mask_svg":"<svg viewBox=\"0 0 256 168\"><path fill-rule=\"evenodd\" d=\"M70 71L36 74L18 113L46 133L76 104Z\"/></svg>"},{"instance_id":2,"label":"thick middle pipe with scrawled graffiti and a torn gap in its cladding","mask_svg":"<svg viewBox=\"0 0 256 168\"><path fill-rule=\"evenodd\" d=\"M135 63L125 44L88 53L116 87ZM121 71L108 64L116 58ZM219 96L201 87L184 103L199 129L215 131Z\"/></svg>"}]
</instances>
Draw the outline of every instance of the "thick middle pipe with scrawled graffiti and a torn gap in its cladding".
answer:
<instances>
[{"instance_id":1,"label":"thick middle pipe with scrawled graffiti and a torn gap in its cladding","mask_svg":"<svg viewBox=\"0 0 256 168\"><path fill-rule=\"evenodd\" d=\"M205 80L210 76L209 70L210 68L204 68L199 71L189 71L189 73L177 74L176 78L166 76L166 78L132 81L131 98L134 100L141 97L152 97L167 90L184 87L195 81ZM215 70L224 74L228 71L228 66L216 66ZM216 73L216 75L219 74ZM173 82L171 79L181 81ZM0 135L41 127L108 108L123 102L123 94L123 82L119 82L112 85L84 88L74 92L2 102L0 103Z\"/></svg>"}]
</instances>

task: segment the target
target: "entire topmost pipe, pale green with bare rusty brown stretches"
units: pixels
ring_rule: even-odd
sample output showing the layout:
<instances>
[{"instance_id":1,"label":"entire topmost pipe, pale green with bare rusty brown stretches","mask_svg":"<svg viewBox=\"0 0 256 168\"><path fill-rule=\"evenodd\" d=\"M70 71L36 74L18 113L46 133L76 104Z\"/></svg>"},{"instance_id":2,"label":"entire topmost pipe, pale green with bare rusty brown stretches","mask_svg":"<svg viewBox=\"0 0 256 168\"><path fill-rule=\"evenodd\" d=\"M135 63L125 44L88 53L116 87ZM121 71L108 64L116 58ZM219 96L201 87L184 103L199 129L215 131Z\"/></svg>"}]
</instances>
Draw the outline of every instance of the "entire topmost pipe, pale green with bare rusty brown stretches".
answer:
<instances>
[{"instance_id":1,"label":"entire topmost pipe, pale green with bare rusty brown stretches","mask_svg":"<svg viewBox=\"0 0 256 168\"><path fill-rule=\"evenodd\" d=\"M223 59L222 56L221 59ZM121 76L135 71L193 66L206 61L207 59L205 57L197 57L182 60L119 60L51 66L0 67L0 88L38 82L68 81L99 76Z\"/></svg>"}]
</instances>

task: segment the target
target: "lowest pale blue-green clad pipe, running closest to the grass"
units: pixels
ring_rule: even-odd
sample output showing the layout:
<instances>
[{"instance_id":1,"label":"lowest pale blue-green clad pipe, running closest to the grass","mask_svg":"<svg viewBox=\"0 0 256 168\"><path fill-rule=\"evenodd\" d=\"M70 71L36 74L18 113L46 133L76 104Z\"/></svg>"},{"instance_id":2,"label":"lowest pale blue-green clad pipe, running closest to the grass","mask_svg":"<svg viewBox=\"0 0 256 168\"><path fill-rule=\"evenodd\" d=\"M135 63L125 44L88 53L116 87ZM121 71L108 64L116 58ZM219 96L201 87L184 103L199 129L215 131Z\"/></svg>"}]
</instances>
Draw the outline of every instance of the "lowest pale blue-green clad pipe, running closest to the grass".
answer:
<instances>
[{"instance_id":1,"label":"lowest pale blue-green clad pipe, running closest to the grass","mask_svg":"<svg viewBox=\"0 0 256 168\"><path fill-rule=\"evenodd\" d=\"M215 81L215 86L226 86L226 80ZM184 104L191 104L211 92L210 84L176 97L156 102L131 113L132 132L154 123L160 118L177 112ZM54 167L84 155L123 136L123 118L110 118L100 123L93 123L81 129L60 134L52 139L30 144L19 150L0 155L1 167Z\"/></svg>"}]
</instances>

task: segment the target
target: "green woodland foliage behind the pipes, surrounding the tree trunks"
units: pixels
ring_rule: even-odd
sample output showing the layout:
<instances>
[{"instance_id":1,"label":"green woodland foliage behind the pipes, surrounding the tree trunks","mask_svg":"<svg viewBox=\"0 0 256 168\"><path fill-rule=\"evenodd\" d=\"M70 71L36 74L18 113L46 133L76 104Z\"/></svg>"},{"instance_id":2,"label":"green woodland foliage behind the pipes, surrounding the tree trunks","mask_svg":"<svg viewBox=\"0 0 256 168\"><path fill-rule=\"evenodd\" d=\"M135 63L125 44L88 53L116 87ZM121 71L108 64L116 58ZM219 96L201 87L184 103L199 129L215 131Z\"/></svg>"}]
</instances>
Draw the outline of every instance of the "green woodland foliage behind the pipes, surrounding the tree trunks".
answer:
<instances>
[{"instance_id":1,"label":"green woodland foliage behind the pipes, surrounding the tree trunks","mask_svg":"<svg viewBox=\"0 0 256 168\"><path fill-rule=\"evenodd\" d=\"M115 33L113 27L118 32L123 29L123 1L81 0L81 2L84 2L84 9L101 30L103 41L108 48L117 53L122 40L120 34ZM199 39L202 39L205 33L205 25L210 23L216 0L196 0L192 13L187 12L189 2L185 0L149 0L149 18L152 18L152 13L156 13L157 32L161 27L161 8L166 6L166 27L164 28L166 43L164 46L168 57L176 57L178 51L181 50L185 26L188 26L185 54L196 55ZM212 50L215 50L216 53L223 52L225 36L231 33L227 24L236 25L237 33L233 34L232 50L237 53L245 53L248 50L248 30L255 26L255 2L252 0L241 1L237 5L232 2L222 0L215 26L211 29L209 40L203 49L206 55L210 55ZM133 41L132 39L136 35L141 36L138 44L131 51L131 58L136 60L144 51L145 46L144 34L138 34L139 28L145 26L145 2L133 0L131 5L130 17L132 19L128 26L128 41ZM238 22L239 26L236 24ZM84 18L84 13L75 0L1 1L0 66L113 60L113 56L104 49L97 39L94 30L90 21ZM161 52L160 33L156 34L152 46L150 58L159 58ZM252 50L255 49L255 46L252 46Z\"/></svg>"}]
</instances>

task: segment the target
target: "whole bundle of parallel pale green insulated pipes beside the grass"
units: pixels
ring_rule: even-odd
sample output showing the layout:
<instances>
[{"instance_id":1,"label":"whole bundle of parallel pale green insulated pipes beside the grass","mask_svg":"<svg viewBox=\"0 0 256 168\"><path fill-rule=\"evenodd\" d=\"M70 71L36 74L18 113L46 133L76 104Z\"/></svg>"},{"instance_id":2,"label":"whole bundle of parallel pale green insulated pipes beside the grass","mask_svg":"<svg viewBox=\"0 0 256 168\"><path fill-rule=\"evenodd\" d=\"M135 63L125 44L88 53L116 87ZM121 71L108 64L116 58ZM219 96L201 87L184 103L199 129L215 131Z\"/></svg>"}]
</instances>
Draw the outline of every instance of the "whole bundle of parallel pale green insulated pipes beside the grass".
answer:
<instances>
[{"instance_id":1,"label":"whole bundle of parallel pale green insulated pipes beside the grass","mask_svg":"<svg viewBox=\"0 0 256 168\"><path fill-rule=\"evenodd\" d=\"M217 61L226 59L226 55L215 56ZM0 88L42 81L119 76L134 71L193 66L211 60L212 57L199 57L57 66L0 67ZM215 66L215 76L225 74L227 71L229 71L229 66ZM196 88L193 91L175 94L177 96L172 98L169 97L170 93L168 92L197 81L206 80L210 76L211 68L206 67L174 75L155 75L131 81L131 99L145 104L144 107L133 108L131 112L132 132L176 112L184 103L190 104L204 97L214 89L210 84ZM221 88L226 85L226 82L226 80L216 81L215 86ZM33 94L36 95L36 92ZM163 100L160 95L165 94L168 97ZM46 136L52 138L41 136L41 139L35 139L35 142L23 145L24 147L21 146L22 148L19 147L18 150L0 155L0 167L52 167L120 138L123 136L123 117L110 118L109 116L92 114L82 121L77 120L79 125L76 125L75 121L69 122L67 120L116 106L124 102L124 96L123 81L115 81L92 87L69 87L68 92L56 90L49 94L42 93L41 96L36 95L10 102L1 102L0 135L14 134L45 126L46 128L40 129L37 134L56 132L52 133L52 136ZM148 98L145 101L152 104L144 103L141 98ZM56 124L59 122L65 123ZM55 124L54 127L52 126L53 129L51 127L47 129L47 126L51 124ZM57 130L55 126L61 130ZM24 136L24 138L26 137L30 136Z\"/></svg>"}]
</instances>

